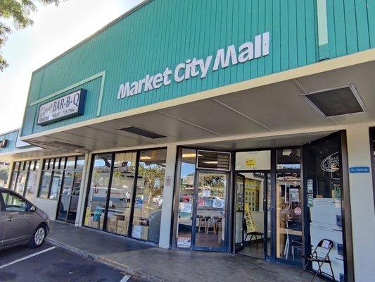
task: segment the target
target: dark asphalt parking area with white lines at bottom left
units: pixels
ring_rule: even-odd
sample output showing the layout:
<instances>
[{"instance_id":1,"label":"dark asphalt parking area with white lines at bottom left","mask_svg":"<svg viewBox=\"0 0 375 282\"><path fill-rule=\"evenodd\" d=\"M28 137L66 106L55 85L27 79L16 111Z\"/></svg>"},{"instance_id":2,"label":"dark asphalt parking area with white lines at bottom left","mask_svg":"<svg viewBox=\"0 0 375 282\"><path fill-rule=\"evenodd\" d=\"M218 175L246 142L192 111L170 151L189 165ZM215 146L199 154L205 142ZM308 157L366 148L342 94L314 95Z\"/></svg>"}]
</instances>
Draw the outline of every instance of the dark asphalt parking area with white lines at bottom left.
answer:
<instances>
[{"instance_id":1,"label":"dark asphalt parking area with white lines at bottom left","mask_svg":"<svg viewBox=\"0 0 375 282\"><path fill-rule=\"evenodd\" d=\"M92 259L45 243L37 249L0 251L0 281L135 282L131 276Z\"/></svg>"}]
</instances>

